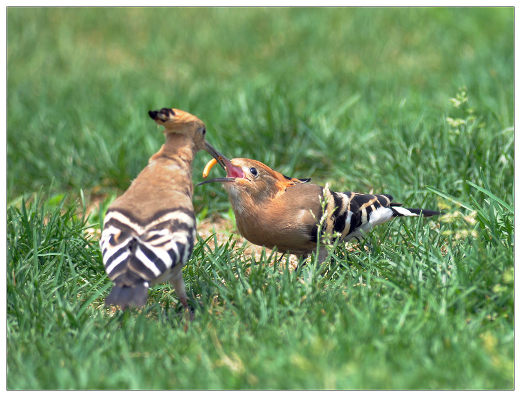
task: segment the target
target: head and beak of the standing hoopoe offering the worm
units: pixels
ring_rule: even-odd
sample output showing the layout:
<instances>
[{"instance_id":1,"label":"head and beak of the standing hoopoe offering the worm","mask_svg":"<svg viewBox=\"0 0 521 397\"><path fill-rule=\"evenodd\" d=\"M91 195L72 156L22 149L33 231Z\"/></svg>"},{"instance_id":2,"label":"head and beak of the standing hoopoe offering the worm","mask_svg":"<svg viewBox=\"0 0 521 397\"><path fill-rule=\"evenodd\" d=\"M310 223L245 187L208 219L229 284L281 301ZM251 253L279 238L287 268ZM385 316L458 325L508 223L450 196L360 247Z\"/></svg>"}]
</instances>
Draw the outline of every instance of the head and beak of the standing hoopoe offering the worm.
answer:
<instances>
[{"instance_id":1,"label":"head and beak of the standing hoopoe offering the worm","mask_svg":"<svg viewBox=\"0 0 521 397\"><path fill-rule=\"evenodd\" d=\"M184 110L163 108L149 111L148 116L154 119L157 124L165 127L163 134L165 134L167 140L169 135L188 137L193 142L194 152L201 149L206 150L222 168L225 168L225 163L221 160L224 156L206 142L206 126L193 114Z\"/></svg>"}]
</instances>

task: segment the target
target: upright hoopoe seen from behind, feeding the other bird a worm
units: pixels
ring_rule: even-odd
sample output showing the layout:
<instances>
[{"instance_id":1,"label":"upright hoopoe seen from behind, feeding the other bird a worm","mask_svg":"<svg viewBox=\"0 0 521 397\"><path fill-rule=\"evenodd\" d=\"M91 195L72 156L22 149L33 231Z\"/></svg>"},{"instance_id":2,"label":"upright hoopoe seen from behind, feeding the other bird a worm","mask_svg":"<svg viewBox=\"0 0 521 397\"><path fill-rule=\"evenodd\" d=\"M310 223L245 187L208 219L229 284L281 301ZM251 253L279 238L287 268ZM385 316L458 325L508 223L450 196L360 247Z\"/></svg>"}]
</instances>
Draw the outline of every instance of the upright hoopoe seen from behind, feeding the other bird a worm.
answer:
<instances>
[{"instance_id":1,"label":"upright hoopoe seen from behind, feeding the other bird a worm","mask_svg":"<svg viewBox=\"0 0 521 397\"><path fill-rule=\"evenodd\" d=\"M192 114L167 108L148 114L165 127L166 143L107 209L100 246L115 286L105 304L122 310L144 306L148 288L169 280L188 309L181 270L195 240L192 161L200 149L219 162L221 155L206 142L206 127Z\"/></svg>"}]
</instances>

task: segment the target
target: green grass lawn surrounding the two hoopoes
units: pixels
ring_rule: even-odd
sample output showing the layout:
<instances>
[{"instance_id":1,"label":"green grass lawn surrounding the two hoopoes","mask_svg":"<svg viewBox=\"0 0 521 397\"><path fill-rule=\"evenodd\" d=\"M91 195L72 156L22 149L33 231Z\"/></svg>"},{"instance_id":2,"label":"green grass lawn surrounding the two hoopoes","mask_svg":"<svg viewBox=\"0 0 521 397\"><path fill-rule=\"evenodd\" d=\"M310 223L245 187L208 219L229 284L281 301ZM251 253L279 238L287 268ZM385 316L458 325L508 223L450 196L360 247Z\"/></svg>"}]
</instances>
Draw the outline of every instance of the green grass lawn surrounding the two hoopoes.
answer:
<instances>
[{"instance_id":1,"label":"green grass lawn surrounding the two hoopoes","mask_svg":"<svg viewBox=\"0 0 521 397\"><path fill-rule=\"evenodd\" d=\"M7 388L513 389L513 14L9 8ZM200 239L187 332L169 285L113 313L92 232L170 106L229 157L447 215L296 272Z\"/></svg>"}]
</instances>

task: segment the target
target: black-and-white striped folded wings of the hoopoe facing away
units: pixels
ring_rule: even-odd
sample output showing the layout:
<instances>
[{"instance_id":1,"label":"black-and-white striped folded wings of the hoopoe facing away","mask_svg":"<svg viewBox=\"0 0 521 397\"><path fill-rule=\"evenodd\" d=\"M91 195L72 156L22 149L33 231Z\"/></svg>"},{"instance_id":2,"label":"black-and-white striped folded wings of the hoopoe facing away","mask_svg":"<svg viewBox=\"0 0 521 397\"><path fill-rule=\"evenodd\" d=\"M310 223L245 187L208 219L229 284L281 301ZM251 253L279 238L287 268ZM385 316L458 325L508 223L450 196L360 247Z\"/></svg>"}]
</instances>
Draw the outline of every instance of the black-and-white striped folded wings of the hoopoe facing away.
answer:
<instances>
[{"instance_id":1,"label":"black-and-white striped folded wings of the hoopoe facing away","mask_svg":"<svg viewBox=\"0 0 521 397\"><path fill-rule=\"evenodd\" d=\"M195 240L195 217L183 209L156 214L139 222L120 210L105 215L100 241L105 270L116 285L148 285L168 279L177 264L184 265Z\"/></svg>"}]
</instances>

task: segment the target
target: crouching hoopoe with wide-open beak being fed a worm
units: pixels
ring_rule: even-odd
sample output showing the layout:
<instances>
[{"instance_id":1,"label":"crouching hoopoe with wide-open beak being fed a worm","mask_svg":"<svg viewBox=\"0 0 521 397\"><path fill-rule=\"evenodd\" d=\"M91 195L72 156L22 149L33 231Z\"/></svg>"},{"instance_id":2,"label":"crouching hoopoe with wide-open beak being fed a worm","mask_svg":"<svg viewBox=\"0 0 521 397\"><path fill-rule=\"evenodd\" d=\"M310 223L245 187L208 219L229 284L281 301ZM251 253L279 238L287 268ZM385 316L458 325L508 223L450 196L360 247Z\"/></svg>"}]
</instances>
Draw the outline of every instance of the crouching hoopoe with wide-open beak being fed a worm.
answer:
<instances>
[{"instance_id":1,"label":"crouching hoopoe with wide-open beak being fed a worm","mask_svg":"<svg viewBox=\"0 0 521 397\"><path fill-rule=\"evenodd\" d=\"M297 257L316 252L317 241L324 236L336 234L336 238L349 241L363 237L376 225L396 216L432 216L440 213L404 208L384 194L338 193L308 184L311 178L282 175L257 160L229 160L224 156L221 159L225 163L226 177L214 178L196 186L222 182L240 234L253 244L281 253L289 252ZM208 162L203 178L208 176L216 163L216 160ZM326 248L320 246L319 263L324 262L326 257Z\"/></svg>"}]
</instances>

